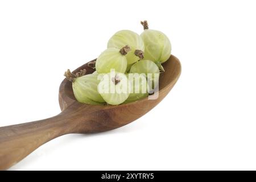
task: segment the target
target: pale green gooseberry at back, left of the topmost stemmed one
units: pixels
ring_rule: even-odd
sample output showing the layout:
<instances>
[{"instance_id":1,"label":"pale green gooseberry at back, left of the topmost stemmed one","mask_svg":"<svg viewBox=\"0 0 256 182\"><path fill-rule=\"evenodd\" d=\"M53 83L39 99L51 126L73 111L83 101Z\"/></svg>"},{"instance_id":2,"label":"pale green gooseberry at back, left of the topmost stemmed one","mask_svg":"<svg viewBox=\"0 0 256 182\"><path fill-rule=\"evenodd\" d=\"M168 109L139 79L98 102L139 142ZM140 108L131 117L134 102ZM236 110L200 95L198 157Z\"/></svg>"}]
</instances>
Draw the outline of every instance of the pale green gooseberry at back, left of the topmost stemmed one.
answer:
<instances>
[{"instance_id":1,"label":"pale green gooseberry at back, left of the topmost stemmed one","mask_svg":"<svg viewBox=\"0 0 256 182\"><path fill-rule=\"evenodd\" d=\"M144 43L137 33L130 30L121 30L116 32L108 42L108 48L115 47L121 49L125 45L129 45L131 51L127 53L127 64L133 64L139 60L139 57L134 55L136 49L144 51Z\"/></svg>"}]
</instances>

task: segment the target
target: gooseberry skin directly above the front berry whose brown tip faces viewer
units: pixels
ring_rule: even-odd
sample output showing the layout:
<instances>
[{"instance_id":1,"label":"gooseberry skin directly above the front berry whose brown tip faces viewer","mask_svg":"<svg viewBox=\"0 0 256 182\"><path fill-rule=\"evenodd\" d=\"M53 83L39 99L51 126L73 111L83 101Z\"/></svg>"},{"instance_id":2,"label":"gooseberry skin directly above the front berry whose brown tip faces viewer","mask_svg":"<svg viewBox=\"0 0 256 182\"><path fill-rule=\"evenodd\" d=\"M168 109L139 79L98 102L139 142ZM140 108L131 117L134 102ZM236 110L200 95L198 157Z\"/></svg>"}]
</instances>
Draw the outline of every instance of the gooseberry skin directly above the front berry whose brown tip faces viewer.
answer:
<instances>
[{"instance_id":1,"label":"gooseberry skin directly above the front berry whose brown tip faces viewer","mask_svg":"<svg viewBox=\"0 0 256 182\"><path fill-rule=\"evenodd\" d=\"M96 71L98 73L109 73L111 69L115 72L125 73L127 60L118 48L108 48L98 56L96 61Z\"/></svg>"}]
</instances>

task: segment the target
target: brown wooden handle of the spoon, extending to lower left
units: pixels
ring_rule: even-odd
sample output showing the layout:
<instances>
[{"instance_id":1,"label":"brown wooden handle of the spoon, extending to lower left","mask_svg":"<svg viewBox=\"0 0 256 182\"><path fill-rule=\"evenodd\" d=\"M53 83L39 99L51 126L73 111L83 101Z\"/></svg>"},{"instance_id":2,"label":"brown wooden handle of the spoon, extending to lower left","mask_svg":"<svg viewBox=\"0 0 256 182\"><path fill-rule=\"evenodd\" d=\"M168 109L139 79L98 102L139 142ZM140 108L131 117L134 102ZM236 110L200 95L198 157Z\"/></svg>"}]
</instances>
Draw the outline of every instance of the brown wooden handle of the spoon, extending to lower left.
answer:
<instances>
[{"instance_id":1,"label":"brown wooden handle of the spoon, extending to lower left","mask_svg":"<svg viewBox=\"0 0 256 182\"><path fill-rule=\"evenodd\" d=\"M49 140L71 133L70 120L61 113L41 121L0 127L0 170L10 168Z\"/></svg>"}]
</instances>

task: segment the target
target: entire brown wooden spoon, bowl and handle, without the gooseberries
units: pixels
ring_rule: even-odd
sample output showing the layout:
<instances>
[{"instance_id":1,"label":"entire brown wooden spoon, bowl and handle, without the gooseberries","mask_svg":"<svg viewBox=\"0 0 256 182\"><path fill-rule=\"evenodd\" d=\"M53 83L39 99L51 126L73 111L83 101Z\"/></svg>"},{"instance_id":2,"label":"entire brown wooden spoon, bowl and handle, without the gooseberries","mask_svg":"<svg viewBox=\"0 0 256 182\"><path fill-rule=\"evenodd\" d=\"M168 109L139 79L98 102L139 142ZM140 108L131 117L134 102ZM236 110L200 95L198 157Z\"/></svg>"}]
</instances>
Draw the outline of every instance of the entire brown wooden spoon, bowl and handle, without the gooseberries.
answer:
<instances>
[{"instance_id":1,"label":"entire brown wooden spoon, bowl and handle, without the gooseberries","mask_svg":"<svg viewBox=\"0 0 256 182\"><path fill-rule=\"evenodd\" d=\"M181 65L175 56L163 64L166 72L160 75L159 97L144 98L118 106L86 105L76 101L72 83L65 79L60 85L61 113L55 117L0 127L0 169L8 169L25 158L42 144L61 135L71 133L97 133L117 129L146 114L170 92L181 73ZM92 73L88 64L77 68Z\"/></svg>"}]
</instances>

